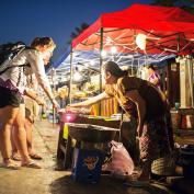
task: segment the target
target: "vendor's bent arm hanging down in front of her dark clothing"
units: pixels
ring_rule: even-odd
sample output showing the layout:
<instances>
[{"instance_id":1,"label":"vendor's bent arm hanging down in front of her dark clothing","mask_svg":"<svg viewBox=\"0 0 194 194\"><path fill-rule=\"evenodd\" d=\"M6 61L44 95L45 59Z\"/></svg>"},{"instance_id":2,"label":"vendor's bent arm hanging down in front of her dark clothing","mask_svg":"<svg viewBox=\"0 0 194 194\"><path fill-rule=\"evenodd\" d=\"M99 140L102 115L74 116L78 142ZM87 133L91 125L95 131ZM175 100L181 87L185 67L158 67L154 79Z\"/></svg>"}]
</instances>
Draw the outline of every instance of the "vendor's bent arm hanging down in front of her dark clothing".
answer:
<instances>
[{"instance_id":1,"label":"vendor's bent arm hanging down in front of her dark clothing","mask_svg":"<svg viewBox=\"0 0 194 194\"><path fill-rule=\"evenodd\" d=\"M137 106L138 128L137 133L140 137L142 135L144 119L146 115L146 101L140 96L137 90L132 90L126 93L126 96L132 100Z\"/></svg>"}]
</instances>

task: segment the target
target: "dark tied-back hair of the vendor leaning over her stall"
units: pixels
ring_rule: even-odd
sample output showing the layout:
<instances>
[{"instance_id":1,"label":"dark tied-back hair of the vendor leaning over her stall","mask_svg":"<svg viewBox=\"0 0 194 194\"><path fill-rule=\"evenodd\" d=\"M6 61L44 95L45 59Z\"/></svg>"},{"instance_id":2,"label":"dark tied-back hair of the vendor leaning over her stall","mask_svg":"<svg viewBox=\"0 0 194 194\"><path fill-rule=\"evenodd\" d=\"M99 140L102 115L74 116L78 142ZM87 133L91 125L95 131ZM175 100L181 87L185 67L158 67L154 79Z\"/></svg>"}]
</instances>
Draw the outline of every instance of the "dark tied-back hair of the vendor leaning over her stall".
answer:
<instances>
[{"instance_id":1,"label":"dark tied-back hair of the vendor leaning over her stall","mask_svg":"<svg viewBox=\"0 0 194 194\"><path fill-rule=\"evenodd\" d=\"M121 78L123 76L127 76L128 71L127 70L122 70L118 65L114 61L107 61L104 66L103 66L104 71L109 71L111 72L112 76L116 77L116 78Z\"/></svg>"}]
</instances>

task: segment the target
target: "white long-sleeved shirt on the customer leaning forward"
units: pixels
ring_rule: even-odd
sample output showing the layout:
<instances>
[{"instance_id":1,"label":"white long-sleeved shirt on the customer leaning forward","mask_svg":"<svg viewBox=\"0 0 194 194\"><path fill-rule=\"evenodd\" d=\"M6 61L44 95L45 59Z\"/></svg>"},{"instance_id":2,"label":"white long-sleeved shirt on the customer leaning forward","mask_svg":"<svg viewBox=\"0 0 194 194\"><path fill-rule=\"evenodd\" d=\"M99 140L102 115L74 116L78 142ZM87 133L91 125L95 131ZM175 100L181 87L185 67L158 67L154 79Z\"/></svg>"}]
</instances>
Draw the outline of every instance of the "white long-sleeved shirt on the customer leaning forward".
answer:
<instances>
[{"instance_id":1,"label":"white long-sleeved shirt on the customer leaning forward","mask_svg":"<svg viewBox=\"0 0 194 194\"><path fill-rule=\"evenodd\" d=\"M10 90L23 93L26 85L26 76L35 73L37 82L47 91L52 91L48 79L45 73L42 54L35 49L24 49L12 61L13 68L8 69L0 75L0 85ZM19 65L30 66L14 67Z\"/></svg>"}]
</instances>

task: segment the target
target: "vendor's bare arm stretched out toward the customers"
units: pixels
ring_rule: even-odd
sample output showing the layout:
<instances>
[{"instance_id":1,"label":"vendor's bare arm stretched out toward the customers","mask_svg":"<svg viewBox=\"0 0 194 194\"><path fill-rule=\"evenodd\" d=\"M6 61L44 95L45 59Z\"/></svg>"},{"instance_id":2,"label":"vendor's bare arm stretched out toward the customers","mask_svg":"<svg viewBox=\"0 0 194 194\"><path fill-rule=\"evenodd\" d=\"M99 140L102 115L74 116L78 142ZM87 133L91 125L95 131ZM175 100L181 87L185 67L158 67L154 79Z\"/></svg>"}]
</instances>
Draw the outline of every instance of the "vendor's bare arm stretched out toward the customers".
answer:
<instances>
[{"instance_id":1,"label":"vendor's bare arm stretched out toward the customers","mask_svg":"<svg viewBox=\"0 0 194 194\"><path fill-rule=\"evenodd\" d=\"M107 95L105 92L103 92L103 93L95 95L87 101L75 103L75 104L69 104L69 106L70 107L89 106L89 105L92 105L101 100L105 100L105 99L110 99L110 98L111 98L110 95Z\"/></svg>"}]
</instances>

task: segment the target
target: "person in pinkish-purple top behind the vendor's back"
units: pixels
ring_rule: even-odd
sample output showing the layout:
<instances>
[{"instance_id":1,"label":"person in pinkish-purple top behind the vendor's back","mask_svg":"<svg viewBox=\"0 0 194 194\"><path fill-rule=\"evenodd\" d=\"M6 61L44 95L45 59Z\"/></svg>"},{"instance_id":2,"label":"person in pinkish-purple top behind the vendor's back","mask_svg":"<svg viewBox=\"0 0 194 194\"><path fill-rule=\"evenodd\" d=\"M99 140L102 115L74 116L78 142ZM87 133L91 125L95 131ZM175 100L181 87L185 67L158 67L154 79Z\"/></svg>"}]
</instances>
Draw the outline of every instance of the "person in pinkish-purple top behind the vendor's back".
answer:
<instances>
[{"instance_id":1,"label":"person in pinkish-purple top behind the vendor's back","mask_svg":"<svg viewBox=\"0 0 194 194\"><path fill-rule=\"evenodd\" d=\"M148 66L148 81L150 81L152 84L155 84L158 89L161 89L160 75L156 71L156 69L152 65Z\"/></svg>"}]
</instances>

